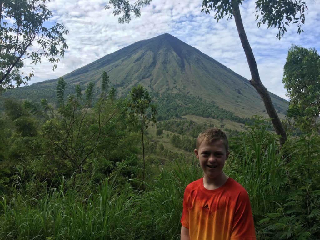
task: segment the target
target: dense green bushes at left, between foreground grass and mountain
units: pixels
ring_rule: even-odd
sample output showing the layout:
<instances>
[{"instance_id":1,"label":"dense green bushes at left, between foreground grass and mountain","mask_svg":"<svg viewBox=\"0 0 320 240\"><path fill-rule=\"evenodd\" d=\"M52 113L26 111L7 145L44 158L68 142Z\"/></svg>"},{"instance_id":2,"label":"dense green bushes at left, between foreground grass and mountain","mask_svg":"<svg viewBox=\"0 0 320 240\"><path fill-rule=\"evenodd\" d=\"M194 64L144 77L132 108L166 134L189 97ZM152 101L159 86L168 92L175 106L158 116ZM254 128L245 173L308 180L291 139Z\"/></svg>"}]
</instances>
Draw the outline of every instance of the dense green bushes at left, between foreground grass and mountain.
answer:
<instances>
[{"instance_id":1,"label":"dense green bushes at left, between foreground grass and mountain","mask_svg":"<svg viewBox=\"0 0 320 240\"><path fill-rule=\"evenodd\" d=\"M66 96L65 88L60 78L58 108L45 99L41 103L4 100L4 166L23 163L41 181L75 173L89 177L93 168L107 176L116 162L139 151L127 103L115 99L115 89L105 88L92 104L94 84L84 91L77 85L76 95Z\"/></svg>"}]
</instances>

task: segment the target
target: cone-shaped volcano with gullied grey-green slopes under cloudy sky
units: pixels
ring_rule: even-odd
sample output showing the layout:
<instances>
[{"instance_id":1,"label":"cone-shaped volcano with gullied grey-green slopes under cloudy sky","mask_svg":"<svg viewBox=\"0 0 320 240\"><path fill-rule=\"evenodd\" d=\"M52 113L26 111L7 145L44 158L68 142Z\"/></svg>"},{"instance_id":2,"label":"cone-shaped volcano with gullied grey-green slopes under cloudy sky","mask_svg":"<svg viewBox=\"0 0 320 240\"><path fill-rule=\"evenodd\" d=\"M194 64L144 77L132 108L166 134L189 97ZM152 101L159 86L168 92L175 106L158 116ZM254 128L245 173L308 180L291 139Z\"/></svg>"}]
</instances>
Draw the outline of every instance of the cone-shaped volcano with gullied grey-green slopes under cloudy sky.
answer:
<instances>
[{"instance_id":1,"label":"cone-shaped volcano with gullied grey-green slopes under cloudy sky","mask_svg":"<svg viewBox=\"0 0 320 240\"><path fill-rule=\"evenodd\" d=\"M143 84L156 97L179 92L214 101L237 116L267 116L259 94L247 79L170 34L131 44L63 78L70 85L83 86L92 81L100 86L102 71L110 76L110 84L119 96L126 96L132 86ZM48 91L55 89L56 83L57 80L48 80L20 89L35 91L36 87L37 91ZM271 98L279 116L284 117L286 101L274 94Z\"/></svg>"}]
</instances>

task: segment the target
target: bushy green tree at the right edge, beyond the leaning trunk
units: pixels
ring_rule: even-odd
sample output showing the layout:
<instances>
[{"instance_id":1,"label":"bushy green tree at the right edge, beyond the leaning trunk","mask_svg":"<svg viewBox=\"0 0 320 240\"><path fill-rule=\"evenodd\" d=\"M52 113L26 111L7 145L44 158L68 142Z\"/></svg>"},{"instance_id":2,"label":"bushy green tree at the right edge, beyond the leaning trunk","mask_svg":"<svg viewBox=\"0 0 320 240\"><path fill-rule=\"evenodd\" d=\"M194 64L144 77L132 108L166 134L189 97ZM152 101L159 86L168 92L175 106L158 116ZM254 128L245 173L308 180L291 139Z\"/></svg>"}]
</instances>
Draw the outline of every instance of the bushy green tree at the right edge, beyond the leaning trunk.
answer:
<instances>
[{"instance_id":1,"label":"bushy green tree at the right edge, beyond the leaning trunk","mask_svg":"<svg viewBox=\"0 0 320 240\"><path fill-rule=\"evenodd\" d=\"M292 45L284 64L282 82L290 105L287 116L302 130L317 130L320 114L320 55L314 48Z\"/></svg>"}]
</instances>

